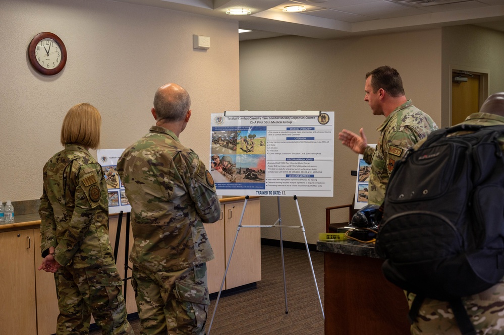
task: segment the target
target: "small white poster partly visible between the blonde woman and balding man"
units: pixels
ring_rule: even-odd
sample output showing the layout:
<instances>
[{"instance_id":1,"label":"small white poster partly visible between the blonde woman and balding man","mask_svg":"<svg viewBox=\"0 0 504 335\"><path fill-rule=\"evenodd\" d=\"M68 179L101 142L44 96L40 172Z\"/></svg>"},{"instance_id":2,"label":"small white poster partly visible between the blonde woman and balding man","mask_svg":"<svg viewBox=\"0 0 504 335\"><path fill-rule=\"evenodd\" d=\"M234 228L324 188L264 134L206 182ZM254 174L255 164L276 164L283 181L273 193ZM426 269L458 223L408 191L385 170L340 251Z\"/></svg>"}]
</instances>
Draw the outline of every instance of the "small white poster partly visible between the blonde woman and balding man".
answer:
<instances>
[{"instance_id":1,"label":"small white poster partly visible between the blonde woman and balding man","mask_svg":"<svg viewBox=\"0 0 504 335\"><path fill-rule=\"evenodd\" d=\"M108 191L108 214L131 212L124 185L117 173L117 161L124 149L97 149L98 162L103 170Z\"/></svg>"}]
</instances>

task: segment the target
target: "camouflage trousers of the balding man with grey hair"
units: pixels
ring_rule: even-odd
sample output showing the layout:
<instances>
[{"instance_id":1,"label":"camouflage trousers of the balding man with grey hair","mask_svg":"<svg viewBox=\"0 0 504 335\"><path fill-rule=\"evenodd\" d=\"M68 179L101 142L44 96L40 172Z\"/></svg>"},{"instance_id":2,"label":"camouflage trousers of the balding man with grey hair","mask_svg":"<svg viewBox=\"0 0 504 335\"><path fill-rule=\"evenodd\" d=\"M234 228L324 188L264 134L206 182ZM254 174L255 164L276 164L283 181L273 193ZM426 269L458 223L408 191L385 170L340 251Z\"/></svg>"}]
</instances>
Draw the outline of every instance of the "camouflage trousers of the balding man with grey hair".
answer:
<instances>
[{"instance_id":1,"label":"camouflage trousers of the balding man with grey hair","mask_svg":"<svg viewBox=\"0 0 504 335\"><path fill-rule=\"evenodd\" d=\"M210 298L206 263L176 272L133 267L141 335L204 335Z\"/></svg>"}]
</instances>

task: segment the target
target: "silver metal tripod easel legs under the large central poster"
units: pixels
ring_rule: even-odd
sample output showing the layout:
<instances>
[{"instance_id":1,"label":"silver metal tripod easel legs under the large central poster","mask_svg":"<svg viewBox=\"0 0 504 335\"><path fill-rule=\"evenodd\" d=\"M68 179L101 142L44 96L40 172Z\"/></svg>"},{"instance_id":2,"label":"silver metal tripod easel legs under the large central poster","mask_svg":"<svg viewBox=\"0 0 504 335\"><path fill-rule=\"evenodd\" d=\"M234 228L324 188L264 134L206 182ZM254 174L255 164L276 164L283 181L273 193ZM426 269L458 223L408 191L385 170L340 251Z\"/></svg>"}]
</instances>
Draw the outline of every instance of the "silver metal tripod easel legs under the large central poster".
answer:
<instances>
[{"instance_id":1,"label":"silver metal tripod easel legs under the large central poster","mask_svg":"<svg viewBox=\"0 0 504 335\"><path fill-rule=\"evenodd\" d=\"M212 319L210 320L210 326L208 327L207 334L210 335L210 330L212 328L213 318L214 318L215 312L217 310L217 305L219 303L220 294L222 292L222 287L224 286L224 283L226 281L226 275L228 274L229 264L231 263L231 258L233 257L233 250L235 249L236 240L238 239L238 233L240 232L241 228L273 228L273 227L278 227L280 229L280 250L281 250L281 254L282 254L282 271L284 274L284 294L285 294L285 313L286 314L289 313L289 309L287 307L287 285L286 285L286 278L285 278L284 246L283 246L283 241L282 241L282 228L301 228L301 231L303 232L303 237L305 239L305 246L306 246L306 252L308 253L308 260L310 261L310 267L311 267L311 273L313 275L313 281L315 282L315 288L317 289L318 302L320 303L320 309L322 310L322 317L325 319L324 308L322 306L322 300L320 299L320 293L318 291L317 279L315 277L315 272L313 271L313 263L311 261L310 250L308 248L308 242L306 240L305 227L303 225L303 219L301 218L301 212L299 211L298 197L296 195L294 195L294 201L296 203L296 208L298 210L299 221L301 222L300 226L282 226L282 215L281 215L281 211L280 211L280 197L279 196L276 197L277 205L278 205L278 220L274 224L272 224L272 225L242 226L243 215L245 214L245 209L247 208L248 199L249 199L249 196L246 195L245 196L245 203L243 205L242 215L240 217L240 222L238 223L238 226L236 228L235 240L233 242L233 247L231 248L231 253L229 255L228 264L226 265L226 271L224 272L224 277L222 278L222 283L220 284L219 293L217 295L217 300L215 301L215 307L213 309ZM278 225L276 225L276 224L278 224Z\"/></svg>"}]
</instances>

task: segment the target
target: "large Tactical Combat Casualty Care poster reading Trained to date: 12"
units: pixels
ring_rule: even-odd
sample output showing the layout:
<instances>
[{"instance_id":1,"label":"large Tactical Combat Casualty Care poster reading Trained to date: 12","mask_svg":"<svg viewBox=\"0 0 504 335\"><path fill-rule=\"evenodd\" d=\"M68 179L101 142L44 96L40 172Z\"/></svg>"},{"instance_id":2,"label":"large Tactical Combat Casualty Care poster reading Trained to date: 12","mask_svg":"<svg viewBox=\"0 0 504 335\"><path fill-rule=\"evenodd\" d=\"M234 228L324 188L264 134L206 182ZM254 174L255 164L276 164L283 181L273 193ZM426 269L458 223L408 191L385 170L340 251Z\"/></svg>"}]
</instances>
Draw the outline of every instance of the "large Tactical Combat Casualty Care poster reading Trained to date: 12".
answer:
<instances>
[{"instance_id":1,"label":"large Tactical Combat Casualty Care poster reading Trained to date: 12","mask_svg":"<svg viewBox=\"0 0 504 335\"><path fill-rule=\"evenodd\" d=\"M208 166L218 195L332 197L334 112L212 113Z\"/></svg>"}]
</instances>

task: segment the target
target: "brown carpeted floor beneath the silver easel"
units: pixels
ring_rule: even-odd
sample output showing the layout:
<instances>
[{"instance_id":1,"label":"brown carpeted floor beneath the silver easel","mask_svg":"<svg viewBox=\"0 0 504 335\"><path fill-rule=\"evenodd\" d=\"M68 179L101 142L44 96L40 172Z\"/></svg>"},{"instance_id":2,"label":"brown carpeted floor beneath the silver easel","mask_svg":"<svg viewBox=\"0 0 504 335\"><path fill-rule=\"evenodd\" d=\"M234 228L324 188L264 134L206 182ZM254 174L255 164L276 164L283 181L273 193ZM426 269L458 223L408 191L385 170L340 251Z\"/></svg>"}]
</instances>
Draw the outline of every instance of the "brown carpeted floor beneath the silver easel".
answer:
<instances>
[{"instance_id":1,"label":"brown carpeted floor beneath the silver easel","mask_svg":"<svg viewBox=\"0 0 504 335\"><path fill-rule=\"evenodd\" d=\"M324 303L324 256L310 252L317 285ZM322 335L324 320L313 282L306 250L284 248L287 282L286 313L281 250L261 246L262 280L255 289L221 296L210 334L213 335ZM215 306L211 301L207 333ZM140 334L139 320L132 320L135 334ZM99 335L95 330L90 335Z\"/></svg>"}]
</instances>

